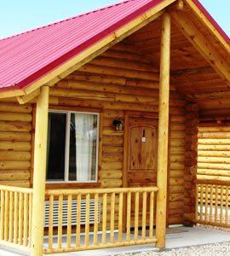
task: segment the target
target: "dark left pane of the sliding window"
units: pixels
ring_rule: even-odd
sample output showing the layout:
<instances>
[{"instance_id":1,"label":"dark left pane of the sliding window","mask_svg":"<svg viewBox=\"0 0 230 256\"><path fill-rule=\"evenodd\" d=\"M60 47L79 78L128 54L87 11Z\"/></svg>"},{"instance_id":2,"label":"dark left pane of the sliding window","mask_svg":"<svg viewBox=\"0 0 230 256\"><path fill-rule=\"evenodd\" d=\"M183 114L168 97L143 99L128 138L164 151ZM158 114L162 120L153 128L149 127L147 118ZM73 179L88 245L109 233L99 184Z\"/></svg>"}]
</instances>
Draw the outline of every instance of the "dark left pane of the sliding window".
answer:
<instances>
[{"instance_id":1,"label":"dark left pane of the sliding window","mask_svg":"<svg viewBox=\"0 0 230 256\"><path fill-rule=\"evenodd\" d=\"M49 113L47 180L64 180L66 113Z\"/></svg>"}]
</instances>

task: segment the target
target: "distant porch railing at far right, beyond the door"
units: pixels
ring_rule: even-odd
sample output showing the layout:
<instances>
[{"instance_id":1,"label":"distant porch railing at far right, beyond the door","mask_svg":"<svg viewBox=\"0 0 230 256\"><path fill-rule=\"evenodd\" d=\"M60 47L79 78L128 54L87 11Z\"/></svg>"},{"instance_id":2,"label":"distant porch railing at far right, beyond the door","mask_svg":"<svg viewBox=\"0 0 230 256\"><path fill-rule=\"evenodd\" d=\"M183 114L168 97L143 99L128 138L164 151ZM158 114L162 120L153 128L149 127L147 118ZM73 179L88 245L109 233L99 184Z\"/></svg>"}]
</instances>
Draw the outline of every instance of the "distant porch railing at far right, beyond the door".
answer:
<instances>
[{"instance_id":1,"label":"distant porch railing at far right, beyond the door","mask_svg":"<svg viewBox=\"0 0 230 256\"><path fill-rule=\"evenodd\" d=\"M230 228L230 183L196 184L196 222Z\"/></svg>"}]
</instances>

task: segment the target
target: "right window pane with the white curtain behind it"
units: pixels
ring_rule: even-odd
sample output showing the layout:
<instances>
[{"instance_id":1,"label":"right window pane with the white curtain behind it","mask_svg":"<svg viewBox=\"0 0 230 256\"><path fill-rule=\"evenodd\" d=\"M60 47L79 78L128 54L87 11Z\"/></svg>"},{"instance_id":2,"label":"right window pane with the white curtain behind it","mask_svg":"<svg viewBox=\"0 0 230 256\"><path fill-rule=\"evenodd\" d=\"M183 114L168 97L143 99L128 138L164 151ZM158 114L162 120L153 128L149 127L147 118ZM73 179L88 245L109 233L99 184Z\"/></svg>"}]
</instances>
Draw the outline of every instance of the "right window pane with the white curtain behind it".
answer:
<instances>
[{"instance_id":1,"label":"right window pane with the white curtain behind it","mask_svg":"<svg viewBox=\"0 0 230 256\"><path fill-rule=\"evenodd\" d=\"M97 115L71 113L69 180L95 180Z\"/></svg>"}]
</instances>

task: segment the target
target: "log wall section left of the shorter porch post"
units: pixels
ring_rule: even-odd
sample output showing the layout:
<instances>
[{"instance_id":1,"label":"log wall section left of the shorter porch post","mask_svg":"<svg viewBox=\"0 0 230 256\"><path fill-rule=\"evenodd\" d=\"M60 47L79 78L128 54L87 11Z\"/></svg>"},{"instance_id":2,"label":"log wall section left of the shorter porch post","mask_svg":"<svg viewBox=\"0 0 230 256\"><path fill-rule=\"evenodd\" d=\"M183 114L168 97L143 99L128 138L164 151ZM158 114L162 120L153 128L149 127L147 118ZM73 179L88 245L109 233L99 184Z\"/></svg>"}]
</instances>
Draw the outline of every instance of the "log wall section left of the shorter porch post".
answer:
<instances>
[{"instance_id":1,"label":"log wall section left of the shorter porch post","mask_svg":"<svg viewBox=\"0 0 230 256\"><path fill-rule=\"evenodd\" d=\"M32 105L0 101L0 184L29 187Z\"/></svg>"}]
</instances>

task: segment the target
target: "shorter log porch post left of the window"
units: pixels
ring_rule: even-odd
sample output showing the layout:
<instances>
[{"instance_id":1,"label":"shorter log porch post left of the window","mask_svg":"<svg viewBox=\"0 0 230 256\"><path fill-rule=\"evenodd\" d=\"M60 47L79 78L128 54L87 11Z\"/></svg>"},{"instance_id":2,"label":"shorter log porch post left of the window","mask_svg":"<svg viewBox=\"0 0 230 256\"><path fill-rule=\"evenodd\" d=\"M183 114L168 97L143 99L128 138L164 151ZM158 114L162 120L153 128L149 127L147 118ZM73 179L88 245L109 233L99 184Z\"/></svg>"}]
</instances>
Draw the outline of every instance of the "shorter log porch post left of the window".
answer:
<instances>
[{"instance_id":1,"label":"shorter log porch post left of the window","mask_svg":"<svg viewBox=\"0 0 230 256\"><path fill-rule=\"evenodd\" d=\"M34 143L34 172L32 198L32 255L43 255L43 226L46 152L48 131L49 86L43 86L37 97Z\"/></svg>"}]
</instances>

